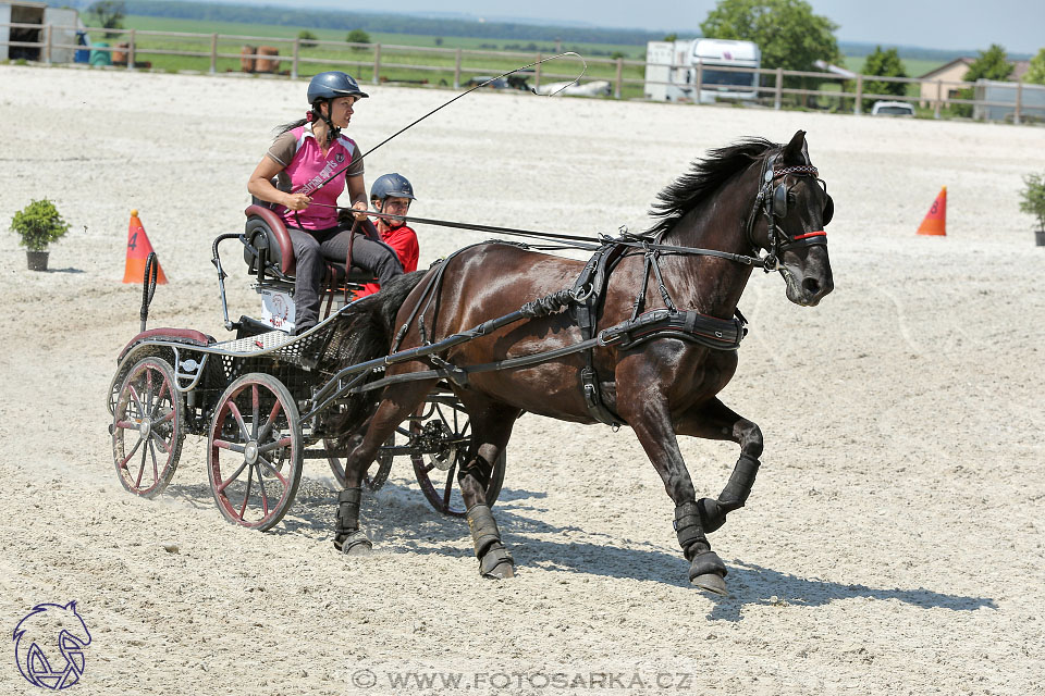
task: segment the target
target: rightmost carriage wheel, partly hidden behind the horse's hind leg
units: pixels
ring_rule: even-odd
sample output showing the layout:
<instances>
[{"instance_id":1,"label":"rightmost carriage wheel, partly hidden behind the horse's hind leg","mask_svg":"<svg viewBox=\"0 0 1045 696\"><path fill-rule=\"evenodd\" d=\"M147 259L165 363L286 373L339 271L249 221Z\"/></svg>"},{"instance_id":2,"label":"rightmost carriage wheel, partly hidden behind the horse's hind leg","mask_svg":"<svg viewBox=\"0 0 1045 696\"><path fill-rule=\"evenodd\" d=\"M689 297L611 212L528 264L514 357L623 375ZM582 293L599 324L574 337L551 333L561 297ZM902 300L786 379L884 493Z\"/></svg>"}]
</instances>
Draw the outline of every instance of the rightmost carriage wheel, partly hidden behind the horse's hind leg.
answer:
<instances>
[{"instance_id":1,"label":"rightmost carriage wheel, partly hidden behind the horse's hind leg","mask_svg":"<svg viewBox=\"0 0 1045 696\"><path fill-rule=\"evenodd\" d=\"M430 401L410 421L410 432L428 434L441 443L432 455L414 455L414 473L421 492L433 508L443 514L465 517L465 500L457 487L457 469L468 456L471 443L471 424L468 413L459 403ZM428 409L431 409L430 411ZM487 505L492 506L501 495L504 483L505 452L502 451L493 465L490 484L487 486Z\"/></svg>"}]
</instances>

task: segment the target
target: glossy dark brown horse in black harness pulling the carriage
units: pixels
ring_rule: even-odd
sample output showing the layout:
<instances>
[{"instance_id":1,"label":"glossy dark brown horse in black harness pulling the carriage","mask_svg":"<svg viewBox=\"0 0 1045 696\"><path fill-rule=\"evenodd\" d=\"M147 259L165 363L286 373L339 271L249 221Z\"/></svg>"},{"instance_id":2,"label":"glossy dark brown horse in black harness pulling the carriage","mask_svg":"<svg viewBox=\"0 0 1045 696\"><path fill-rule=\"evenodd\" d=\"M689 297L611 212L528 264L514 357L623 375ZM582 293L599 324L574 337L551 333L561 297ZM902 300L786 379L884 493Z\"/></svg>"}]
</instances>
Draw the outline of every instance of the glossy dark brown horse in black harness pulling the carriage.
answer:
<instances>
[{"instance_id":1,"label":"glossy dark brown horse in black harness pulling the carriage","mask_svg":"<svg viewBox=\"0 0 1045 696\"><path fill-rule=\"evenodd\" d=\"M516 419L529 411L576 423L611 420L631 426L675 504L675 530L690 562L690 581L725 593L726 567L705 533L745 505L763 444L758 425L716 398L736 371L739 336L732 345L715 346L712 334L721 338L716 326L739 325L734 315L752 261L777 270L787 298L797 304L813 307L833 289L824 226L834 204L810 162L804 136L799 130L786 146L748 139L713 150L661 191L653 210L660 221L644 236L647 246L624 249L607 266L594 313L599 325L613 326L644 309L640 318L660 318L662 331L639 339L641 326L635 324L628 340L599 345L588 358L571 352L536 365L477 371L454 385L474 432L458 482L482 574L514 574L484 490L491 462L506 446ZM701 251L694 253L697 249ZM750 256L760 250L767 251L761 263ZM343 321L353 323L357 340L345 364L427 345L507 314L522 301L556 295L574 286L583 266L518 245L467 248L346 311ZM393 363L386 375L432 374L433 369L447 374L566 348L590 337L577 316L576 311L538 315L431 358ZM680 318L697 328L686 330ZM592 374L599 378L592 381ZM369 548L358 524L362 473L438 380L390 384L380 402L373 396L368 400L366 393L356 397L349 420L357 427L344 435L355 446L346 462L347 487L339 498L339 549ZM717 498L697 499L677 435L739 445L739 460Z\"/></svg>"}]
</instances>

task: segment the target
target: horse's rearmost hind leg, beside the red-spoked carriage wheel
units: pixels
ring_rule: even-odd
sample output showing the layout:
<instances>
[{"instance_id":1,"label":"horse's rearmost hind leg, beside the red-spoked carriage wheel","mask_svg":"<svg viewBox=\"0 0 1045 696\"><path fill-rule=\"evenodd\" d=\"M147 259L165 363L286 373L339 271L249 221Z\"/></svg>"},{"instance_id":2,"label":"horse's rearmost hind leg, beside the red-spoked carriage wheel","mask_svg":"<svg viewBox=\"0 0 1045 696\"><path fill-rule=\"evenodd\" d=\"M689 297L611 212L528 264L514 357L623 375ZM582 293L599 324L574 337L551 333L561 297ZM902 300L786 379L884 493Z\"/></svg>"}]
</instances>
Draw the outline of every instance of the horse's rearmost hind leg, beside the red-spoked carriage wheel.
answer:
<instances>
[{"instance_id":1,"label":"horse's rearmost hind leg, beside the red-spoked carriage wheel","mask_svg":"<svg viewBox=\"0 0 1045 696\"><path fill-rule=\"evenodd\" d=\"M345 460L345 489L337 494L337 517L334 524L334 548L343 554L366 554L370 539L359 529L359 505L362 501L362 474L373 461L378 448L395 432L396 426L417 410L435 380L406 382L385 388L367 426L362 442Z\"/></svg>"}]
</instances>

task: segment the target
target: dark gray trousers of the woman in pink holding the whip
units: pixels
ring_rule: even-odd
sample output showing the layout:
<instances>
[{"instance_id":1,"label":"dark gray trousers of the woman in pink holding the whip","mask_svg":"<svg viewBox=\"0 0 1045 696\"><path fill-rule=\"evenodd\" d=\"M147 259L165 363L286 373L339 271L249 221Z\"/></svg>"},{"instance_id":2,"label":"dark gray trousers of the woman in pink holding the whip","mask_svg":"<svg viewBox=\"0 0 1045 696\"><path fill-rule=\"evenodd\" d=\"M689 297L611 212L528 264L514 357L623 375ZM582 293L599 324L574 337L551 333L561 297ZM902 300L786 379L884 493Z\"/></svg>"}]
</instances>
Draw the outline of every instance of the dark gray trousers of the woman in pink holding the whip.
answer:
<instances>
[{"instance_id":1,"label":"dark gray trousers of the woman in pink holding the whip","mask_svg":"<svg viewBox=\"0 0 1045 696\"><path fill-rule=\"evenodd\" d=\"M300 334L319 323L319 286L323 282L325 261L345 262L348 240L353 237L352 223L327 229L287 226L286 231L291 235L294 258L297 260L294 271L297 278L294 285L294 331ZM381 285L403 273L403 265L392 247L361 232L356 232L352 241L352 264L372 272Z\"/></svg>"}]
</instances>

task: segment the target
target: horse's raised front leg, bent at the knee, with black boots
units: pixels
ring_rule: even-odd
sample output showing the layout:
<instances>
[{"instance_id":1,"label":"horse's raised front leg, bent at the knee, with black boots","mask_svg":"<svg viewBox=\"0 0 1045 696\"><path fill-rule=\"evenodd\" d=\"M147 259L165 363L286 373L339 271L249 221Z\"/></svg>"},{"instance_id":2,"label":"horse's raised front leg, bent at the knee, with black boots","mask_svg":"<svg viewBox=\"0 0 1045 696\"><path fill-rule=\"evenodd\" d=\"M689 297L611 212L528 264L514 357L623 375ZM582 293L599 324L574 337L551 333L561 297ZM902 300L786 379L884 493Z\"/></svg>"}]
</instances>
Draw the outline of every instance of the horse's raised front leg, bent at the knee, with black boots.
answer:
<instances>
[{"instance_id":1,"label":"horse's raised front leg, bent at the knee, with black boots","mask_svg":"<svg viewBox=\"0 0 1045 696\"><path fill-rule=\"evenodd\" d=\"M701 498L697 501L701 525L711 534L725 524L726 513L742 508L751 494L759 473L759 457L762 456L762 431L718 399L711 399L684 413L675 432L704 439L728 439L740 445L740 458L718 499Z\"/></svg>"}]
</instances>

